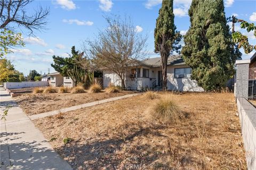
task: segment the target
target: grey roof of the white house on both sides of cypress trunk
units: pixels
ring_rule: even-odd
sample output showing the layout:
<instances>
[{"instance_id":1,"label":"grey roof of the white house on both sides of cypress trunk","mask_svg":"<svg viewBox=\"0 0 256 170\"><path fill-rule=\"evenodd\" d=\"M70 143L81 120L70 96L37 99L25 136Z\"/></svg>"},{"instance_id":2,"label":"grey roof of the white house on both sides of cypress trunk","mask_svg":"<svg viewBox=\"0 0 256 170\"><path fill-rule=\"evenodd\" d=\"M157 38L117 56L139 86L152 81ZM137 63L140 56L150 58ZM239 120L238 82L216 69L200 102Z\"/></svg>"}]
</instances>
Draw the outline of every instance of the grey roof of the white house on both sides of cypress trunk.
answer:
<instances>
[{"instance_id":1,"label":"grey roof of the white house on both sides of cypress trunk","mask_svg":"<svg viewBox=\"0 0 256 170\"><path fill-rule=\"evenodd\" d=\"M159 67L161 66L161 57L148 58L141 63L150 67ZM185 65L185 62L181 55L171 55L167 60L167 65Z\"/></svg>"}]
</instances>

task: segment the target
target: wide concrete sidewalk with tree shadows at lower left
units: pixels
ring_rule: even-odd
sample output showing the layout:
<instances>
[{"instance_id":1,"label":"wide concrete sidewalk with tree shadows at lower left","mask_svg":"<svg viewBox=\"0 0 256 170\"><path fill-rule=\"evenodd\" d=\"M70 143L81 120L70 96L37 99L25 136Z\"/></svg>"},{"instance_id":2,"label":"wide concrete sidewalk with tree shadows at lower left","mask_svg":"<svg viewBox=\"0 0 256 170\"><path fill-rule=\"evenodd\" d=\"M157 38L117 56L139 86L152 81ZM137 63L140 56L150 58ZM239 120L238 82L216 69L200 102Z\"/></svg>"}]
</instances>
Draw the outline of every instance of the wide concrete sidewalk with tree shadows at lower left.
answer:
<instances>
[{"instance_id":1,"label":"wide concrete sidewalk with tree shadows at lower left","mask_svg":"<svg viewBox=\"0 0 256 170\"><path fill-rule=\"evenodd\" d=\"M12 105L6 121L1 120L0 169L72 169L3 88L0 98L1 115Z\"/></svg>"}]
</instances>

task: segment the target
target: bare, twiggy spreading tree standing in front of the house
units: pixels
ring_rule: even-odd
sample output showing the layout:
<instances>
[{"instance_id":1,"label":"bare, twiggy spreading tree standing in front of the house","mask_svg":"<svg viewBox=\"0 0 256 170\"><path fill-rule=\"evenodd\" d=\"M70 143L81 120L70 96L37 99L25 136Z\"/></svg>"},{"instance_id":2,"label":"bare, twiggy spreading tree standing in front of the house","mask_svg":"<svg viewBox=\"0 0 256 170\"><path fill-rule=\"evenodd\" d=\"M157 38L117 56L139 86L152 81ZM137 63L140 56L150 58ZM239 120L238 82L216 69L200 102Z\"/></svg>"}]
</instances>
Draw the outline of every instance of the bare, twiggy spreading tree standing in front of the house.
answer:
<instances>
[{"instance_id":1,"label":"bare, twiggy spreading tree standing in front of the house","mask_svg":"<svg viewBox=\"0 0 256 170\"><path fill-rule=\"evenodd\" d=\"M85 41L84 48L96 67L116 73L121 79L122 88L125 88L125 76L130 66L137 64L147 54L147 36L135 30L130 18L122 20L120 16L114 16L105 19L108 27L99 31L97 40Z\"/></svg>"}]
</instances>

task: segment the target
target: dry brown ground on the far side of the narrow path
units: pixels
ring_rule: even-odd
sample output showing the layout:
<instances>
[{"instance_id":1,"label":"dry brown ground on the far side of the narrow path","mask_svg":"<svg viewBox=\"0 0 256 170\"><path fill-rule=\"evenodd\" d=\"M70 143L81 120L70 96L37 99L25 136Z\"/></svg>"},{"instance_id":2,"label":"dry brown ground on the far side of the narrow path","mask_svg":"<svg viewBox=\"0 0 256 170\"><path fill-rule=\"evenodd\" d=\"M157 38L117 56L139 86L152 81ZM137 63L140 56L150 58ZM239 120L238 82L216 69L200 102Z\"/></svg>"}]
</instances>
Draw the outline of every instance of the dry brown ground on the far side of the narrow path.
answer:
<instances>
[{"instance_id":1,"label":"dry brown ground on the far side of the narrow path","mask_svg":"<svg viewBox=\"0 0 256 170\"><path fill-rule=\"evenodd\" d=\"M85 92L83 94L23 94L14 99L28 115L34 115L44 112L55 111L60 108L81 105L92 101L123 96L133 93L132 91L121 91L117 93L107 94L102 91L97 94Z\"/></svg>"}]
</instances>

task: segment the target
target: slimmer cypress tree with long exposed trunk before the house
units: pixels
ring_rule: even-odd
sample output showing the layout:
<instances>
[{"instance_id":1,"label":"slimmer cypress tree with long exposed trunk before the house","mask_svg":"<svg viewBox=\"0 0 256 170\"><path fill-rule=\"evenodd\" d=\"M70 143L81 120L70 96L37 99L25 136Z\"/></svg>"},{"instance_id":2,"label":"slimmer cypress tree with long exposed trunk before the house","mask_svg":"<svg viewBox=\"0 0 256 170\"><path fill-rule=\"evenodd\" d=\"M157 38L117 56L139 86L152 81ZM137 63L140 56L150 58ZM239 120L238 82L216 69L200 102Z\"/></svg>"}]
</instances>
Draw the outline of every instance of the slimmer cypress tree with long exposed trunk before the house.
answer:
<instances>
[{"instance_id":1,"label":"slimmer cypress tree with long exposed trunk before the house","mask_svg":"<svg viewBox=\"0 0 256 170\"><path fill-rule=\"evenodd\" d=\"M174 25L173 0L163 0L156 20L155 28L155 53L159 53L162 59L163 90L167 89L167 59L174 51L181 48L179 41L182 36L176 31Z\"/></svg>"}]
</instances>

